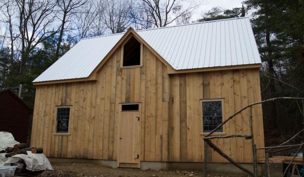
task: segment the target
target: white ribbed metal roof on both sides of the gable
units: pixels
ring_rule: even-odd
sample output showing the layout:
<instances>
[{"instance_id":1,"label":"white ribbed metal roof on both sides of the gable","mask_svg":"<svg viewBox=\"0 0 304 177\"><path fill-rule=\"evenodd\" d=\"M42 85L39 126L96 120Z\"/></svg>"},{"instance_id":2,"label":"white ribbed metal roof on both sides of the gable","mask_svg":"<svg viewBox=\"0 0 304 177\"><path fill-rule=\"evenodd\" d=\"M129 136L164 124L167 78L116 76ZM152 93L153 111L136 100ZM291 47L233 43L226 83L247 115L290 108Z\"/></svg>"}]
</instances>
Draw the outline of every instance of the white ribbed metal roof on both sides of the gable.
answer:
<instances>
[{"instance_id":1,"label":"white ribbed metal roof on both sides of the gable","mask_svg":"<svg viewBox=\"0 0 304 177\"><path fill-rule=\"evenodd\" d=\"M261 63L248 17L136 32L176 70ZM123 35L82 39L33 82L88 77Z\"/></svg>"}]
</instances>

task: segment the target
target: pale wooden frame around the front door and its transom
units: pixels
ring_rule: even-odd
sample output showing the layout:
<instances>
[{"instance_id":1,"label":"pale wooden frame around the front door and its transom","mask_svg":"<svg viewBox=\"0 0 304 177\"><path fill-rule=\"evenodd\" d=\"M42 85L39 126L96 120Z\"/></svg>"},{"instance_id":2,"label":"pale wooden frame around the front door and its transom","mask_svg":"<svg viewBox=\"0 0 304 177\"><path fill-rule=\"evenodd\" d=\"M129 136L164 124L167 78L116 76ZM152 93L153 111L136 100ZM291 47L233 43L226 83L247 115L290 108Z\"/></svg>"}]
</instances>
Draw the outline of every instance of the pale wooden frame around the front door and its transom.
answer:
<instances>
[{"instance_id":1,"label":"pale wooden frame around the front door and its transom","mask_svg":"<svg viewBox=\"0 0 304 177\"><path fill-rule=\"evenodd\" d=\"M139 158L138 158L138 164L137 164L137 168L140 168L140 162L141 162L141 120L142 118L141 116L141 102L133 102L133 103L119 103L119 115L118 115L118 136L117 136L117 167L120 167L120 135L121 135L121 118L122 118L122 105L135 105L138 104L138 112L139 112L139 124L138 124L138 131L139 131L139 135L138 135L138 154L139 154ZM131 112L131 111L130 111ZM132 112L136 112L136 111L132 111ZM136 163L134 163L136 164Z\"/></svg>"}]
</instances>

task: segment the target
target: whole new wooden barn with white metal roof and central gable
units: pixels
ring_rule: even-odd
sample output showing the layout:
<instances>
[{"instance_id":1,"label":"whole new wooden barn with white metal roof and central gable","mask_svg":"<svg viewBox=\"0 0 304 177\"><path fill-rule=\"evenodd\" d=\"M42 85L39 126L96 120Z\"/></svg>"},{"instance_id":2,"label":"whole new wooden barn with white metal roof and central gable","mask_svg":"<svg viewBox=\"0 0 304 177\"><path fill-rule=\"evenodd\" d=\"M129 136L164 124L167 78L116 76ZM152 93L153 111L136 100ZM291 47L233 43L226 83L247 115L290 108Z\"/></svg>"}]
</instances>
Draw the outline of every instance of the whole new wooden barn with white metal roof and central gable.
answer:
<instances>
[{"instance_id":1,"label":"whole new wooden barn with white metal roof and central gable","mask_svg":"<svg viewBox=\"0 0 304 177\"><path fill-rule=\"evenodd\" d=\"M203 136L261 100L260 65L248 18L84 38L33 81L31 145L53 160L202 169ZM253 117L261 147L260 105ZM249 134L248 120L244 111L215 135ZM250 140L212 142L252 163ZM229 164L208 155L210 165Z\"/></svg>"}]
</instances>

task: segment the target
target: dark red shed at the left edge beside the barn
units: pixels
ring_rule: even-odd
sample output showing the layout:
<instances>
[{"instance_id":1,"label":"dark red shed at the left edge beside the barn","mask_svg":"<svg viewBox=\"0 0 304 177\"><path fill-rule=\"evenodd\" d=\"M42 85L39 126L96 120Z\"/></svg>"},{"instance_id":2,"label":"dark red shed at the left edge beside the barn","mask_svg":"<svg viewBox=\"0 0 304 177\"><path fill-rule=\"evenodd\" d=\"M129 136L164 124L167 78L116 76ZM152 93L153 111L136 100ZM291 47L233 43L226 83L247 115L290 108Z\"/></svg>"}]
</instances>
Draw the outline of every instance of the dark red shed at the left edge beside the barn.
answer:
<instances>
[{"instance_id":1,"label":"dark red shed at the left edge beside the barn","mask_svg":"<svg viewBox=\"0 0 304 177\"><path fill-rule=\"evenodd\" d=\"M16 141L26 143L31 109L11 90L0 90L0 131L11 132Z\"/></svg>"}]
</instances>

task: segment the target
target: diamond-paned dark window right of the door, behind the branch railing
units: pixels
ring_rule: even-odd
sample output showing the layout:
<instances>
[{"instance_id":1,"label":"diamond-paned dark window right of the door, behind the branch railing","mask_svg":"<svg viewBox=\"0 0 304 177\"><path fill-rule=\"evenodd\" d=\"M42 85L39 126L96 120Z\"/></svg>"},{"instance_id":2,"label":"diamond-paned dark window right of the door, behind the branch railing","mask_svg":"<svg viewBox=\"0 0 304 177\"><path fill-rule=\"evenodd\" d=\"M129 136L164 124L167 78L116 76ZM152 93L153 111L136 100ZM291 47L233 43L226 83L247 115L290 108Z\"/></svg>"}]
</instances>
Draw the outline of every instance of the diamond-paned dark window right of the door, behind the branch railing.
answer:
<instances>
[{"instance_id":1,"label":"diamond-paned dark window right of the door, behind the branch railing","mask_svg":"<svg viewBox=\"0 0 304 177\"><path fill-rule=\"evenodd\" d=\"M203 102L203 130L204 132L211 132L220 123L222 123L222 102L221 101L207 101ZM216 132L222 132L220 127Z\"/></svg>"}]
</instances>

